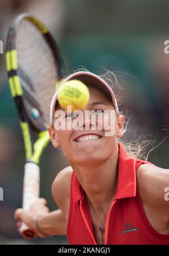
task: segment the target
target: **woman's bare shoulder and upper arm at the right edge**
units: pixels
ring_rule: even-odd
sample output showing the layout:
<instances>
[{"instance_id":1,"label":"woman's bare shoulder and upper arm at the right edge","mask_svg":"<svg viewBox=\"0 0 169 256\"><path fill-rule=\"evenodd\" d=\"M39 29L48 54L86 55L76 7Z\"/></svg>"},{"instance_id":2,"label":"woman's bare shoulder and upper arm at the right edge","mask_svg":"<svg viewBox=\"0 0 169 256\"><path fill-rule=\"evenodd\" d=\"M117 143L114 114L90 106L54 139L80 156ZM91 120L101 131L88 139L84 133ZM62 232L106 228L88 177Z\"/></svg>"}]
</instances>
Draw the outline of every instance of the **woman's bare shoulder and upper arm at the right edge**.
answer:
<instances>
[{"instance_id":1,"label":"woman's bare shoulder and upper arm at the right edge","mask_svg":"<svg viewBox=\"0 0 169 256\"><path fill-rule=\"evenodd\" d=\"M150 224L163 234L169 232L169 170L152 164L141 164L137 185Z\"/></svg>"}]
</instances>

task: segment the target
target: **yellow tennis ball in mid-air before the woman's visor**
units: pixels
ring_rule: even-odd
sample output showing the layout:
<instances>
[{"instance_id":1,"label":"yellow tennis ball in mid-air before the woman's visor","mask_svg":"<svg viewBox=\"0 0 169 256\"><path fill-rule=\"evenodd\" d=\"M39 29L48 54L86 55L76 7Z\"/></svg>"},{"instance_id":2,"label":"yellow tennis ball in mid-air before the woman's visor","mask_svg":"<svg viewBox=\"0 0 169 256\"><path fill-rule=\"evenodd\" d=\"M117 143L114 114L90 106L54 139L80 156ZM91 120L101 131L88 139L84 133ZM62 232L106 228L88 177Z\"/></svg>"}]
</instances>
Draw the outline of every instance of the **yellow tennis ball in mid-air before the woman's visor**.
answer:
<instances>
[{"instance_id":1,"label":"yellow tennis ball in mid-air before the woman's visor","mask_svg":"<svg viewBox=\"0 0 169 256\"><path fill-rule=\"evenodd\" d=\"M90 93L85 84L79 80L69 80L59 89L57 100L59 105L66 109L72 106L72 111L81 110L87 105Z\"/></svg>"}]
</instances>

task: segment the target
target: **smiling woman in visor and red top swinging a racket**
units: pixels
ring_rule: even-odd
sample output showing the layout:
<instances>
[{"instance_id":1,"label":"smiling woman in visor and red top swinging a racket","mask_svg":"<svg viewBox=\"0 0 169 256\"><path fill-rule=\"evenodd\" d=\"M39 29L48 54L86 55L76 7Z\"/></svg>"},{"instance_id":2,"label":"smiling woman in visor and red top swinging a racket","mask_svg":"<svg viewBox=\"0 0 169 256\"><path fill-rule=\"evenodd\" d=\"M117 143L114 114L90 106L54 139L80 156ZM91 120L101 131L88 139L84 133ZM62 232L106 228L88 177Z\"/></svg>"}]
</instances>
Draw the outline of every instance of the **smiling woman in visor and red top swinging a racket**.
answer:
<instances>
[{"instance_id":1,"label":"smiling woman in visor and red top swinging a racket","mask_svg":"<svg viewBox=\"0 0 169 256\"><path fill-rule=\"evenodd\" d=\"M104 127L98 128L99 118L96 129L86 118L83 129L55 129L55 111L61 110L56 93L48 132L70 163L52 184L59 210L48 212L46 200L38 199L29 211L15 211L18 227L25 222L39 237L67 235L69 244L169 244L169 170L127 153L120 142L124 116L101 77L81 71L66 80L71 79L90 90L83 112L114 110L114 133L106 136ZM73 118L66 114L65 122Z\"/></svg>"}]
</instances>

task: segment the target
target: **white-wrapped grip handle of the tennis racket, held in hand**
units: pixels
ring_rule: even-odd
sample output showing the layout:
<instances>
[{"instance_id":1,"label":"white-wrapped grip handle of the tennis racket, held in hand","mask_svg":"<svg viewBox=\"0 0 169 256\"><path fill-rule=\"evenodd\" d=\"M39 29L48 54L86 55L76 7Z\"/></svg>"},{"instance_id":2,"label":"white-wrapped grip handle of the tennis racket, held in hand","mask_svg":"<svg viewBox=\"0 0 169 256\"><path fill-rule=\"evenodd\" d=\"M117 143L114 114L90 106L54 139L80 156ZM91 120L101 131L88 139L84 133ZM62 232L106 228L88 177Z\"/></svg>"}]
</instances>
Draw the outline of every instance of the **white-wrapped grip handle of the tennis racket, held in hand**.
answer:
<instances>
[{"instance_id":1,"label":"white-wrapped grip handle of the tennis racket, held in hand","mask_svg":"<svg viewBox=\"0 0 169 256\"><path fill-rule=\"evenodd\" d=\"M29 210L32 203L39 197L40 168L38 164L29 162L24 168L23 209ZM34 232L25 223L21 224L20 234L33 238Z\"/></svg>"}]
</instances>

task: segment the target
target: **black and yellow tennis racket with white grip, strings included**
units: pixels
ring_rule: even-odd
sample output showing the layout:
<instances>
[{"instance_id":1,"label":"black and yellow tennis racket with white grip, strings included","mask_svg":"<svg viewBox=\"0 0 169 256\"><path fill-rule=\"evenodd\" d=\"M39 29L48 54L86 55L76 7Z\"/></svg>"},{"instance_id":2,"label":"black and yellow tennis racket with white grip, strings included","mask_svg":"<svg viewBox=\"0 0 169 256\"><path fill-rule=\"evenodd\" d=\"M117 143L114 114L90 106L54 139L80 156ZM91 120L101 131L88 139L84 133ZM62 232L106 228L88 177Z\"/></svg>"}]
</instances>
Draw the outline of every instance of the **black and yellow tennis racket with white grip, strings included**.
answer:
<instances>
[{"instance_id":1,"label":"black and yellow tennis racket with white grip, strings included","mask_svg":"<svg viewBox=\"0 0 169 256\"><path fill-rule=\"evenodd\" d=\"M44 24L29 14L19 15L11 25L6 46L6 67L11 94L19 113L26 163L23 208L39 197L39 160L50 141L46 123L55 86L65 75L58 46ZM34 232L23 223L20 233Z\"/></svg>"}]
</instances>

